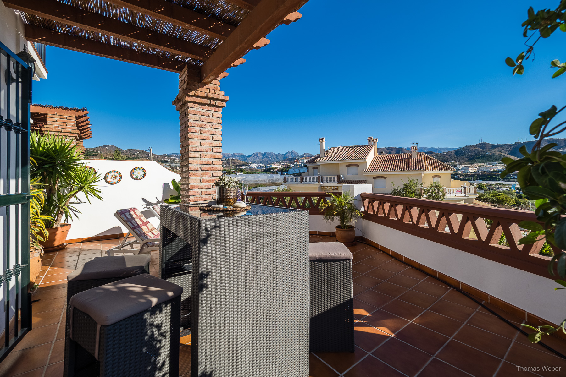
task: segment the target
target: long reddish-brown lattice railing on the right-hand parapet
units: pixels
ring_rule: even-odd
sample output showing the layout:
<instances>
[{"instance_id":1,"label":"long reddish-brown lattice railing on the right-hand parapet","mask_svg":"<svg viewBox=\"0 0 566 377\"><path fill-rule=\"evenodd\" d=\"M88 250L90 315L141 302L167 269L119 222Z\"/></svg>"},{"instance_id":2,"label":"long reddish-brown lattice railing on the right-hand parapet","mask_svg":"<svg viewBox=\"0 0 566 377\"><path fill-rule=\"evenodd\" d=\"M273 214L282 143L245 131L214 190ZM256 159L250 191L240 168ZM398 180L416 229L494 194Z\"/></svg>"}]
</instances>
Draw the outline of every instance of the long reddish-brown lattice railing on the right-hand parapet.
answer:
<instances>
[{"instance_id":1,"label":"long reddish-brown lattice railing on the right-hand parapet","mask_svg":"<svg viewBox=\"0 0 566 377\"><path fill-rule=\"evenodd\" d=\"M362 193L361 198L366 220L551 278L550 258L538 254L542 240L517 245L522 238L518 223L537 222L533 212L371 193ZM490 227L484 219L492 221ZM502 234L509 246L499 245Z\"/></svg>"}]
</instances>

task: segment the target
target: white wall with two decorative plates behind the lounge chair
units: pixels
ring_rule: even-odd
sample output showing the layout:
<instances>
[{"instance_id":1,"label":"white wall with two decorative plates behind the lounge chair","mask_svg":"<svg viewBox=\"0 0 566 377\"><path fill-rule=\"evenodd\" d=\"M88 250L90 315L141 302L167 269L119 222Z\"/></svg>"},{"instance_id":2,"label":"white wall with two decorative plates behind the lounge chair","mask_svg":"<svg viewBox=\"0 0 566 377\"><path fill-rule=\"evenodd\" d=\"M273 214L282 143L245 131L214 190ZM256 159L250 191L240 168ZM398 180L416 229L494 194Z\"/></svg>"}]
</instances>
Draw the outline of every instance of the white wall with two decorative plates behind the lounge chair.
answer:
<instances>
[{"instance_id":1,"label":"white wall with two decorative plates behind the lounge chair","mask_svg":"<svg viewBox=\"0 0 566 377\"><path fill-rule=\"evenodd\" d=\"M103 200L91 200L91 204L79 197L84 203L75 205L82 213L78 219L70 221L71 230L68 240L84 239L87 237L115 235L126 233L126 229L115 218L114 213L119 209L135 207L155 226L159 219L145 209L149 203L157 203L168 199L170 194L176 194L171 188L171 180L179 181L181 175L172 172L155 161L114 161L114 160L84 160L87 166L95 168L102 176L99 183L102 187ZM130 172L135 167L143 167L146 175L143 179L135 180ZM110 185L104 181L107 172L116 170L122 174L122 180Z\"/></svg>"}]
</instances>

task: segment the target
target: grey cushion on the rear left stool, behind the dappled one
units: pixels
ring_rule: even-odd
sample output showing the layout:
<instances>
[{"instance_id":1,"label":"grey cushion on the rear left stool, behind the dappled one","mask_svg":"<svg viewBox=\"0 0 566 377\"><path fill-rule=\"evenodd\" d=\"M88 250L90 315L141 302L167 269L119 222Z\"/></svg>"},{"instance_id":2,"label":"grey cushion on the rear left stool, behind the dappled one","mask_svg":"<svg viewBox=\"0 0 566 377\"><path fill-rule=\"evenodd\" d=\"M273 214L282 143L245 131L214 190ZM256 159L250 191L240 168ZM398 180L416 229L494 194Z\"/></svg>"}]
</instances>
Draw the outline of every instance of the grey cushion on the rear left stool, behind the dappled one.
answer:
<instances>
[{"instance_id":1,"label":"grey cushion on the rear left stool, behind the dappled one","mask_svg":"<svg viewBox=\"0 0 566 377\"><path fill-rule=\"evenodd\" d=\"M68 274L67 280L121 278L122 276L127 278L143 272L150 259L151 255L97 257Z\"/></svg>"}]
</instances>

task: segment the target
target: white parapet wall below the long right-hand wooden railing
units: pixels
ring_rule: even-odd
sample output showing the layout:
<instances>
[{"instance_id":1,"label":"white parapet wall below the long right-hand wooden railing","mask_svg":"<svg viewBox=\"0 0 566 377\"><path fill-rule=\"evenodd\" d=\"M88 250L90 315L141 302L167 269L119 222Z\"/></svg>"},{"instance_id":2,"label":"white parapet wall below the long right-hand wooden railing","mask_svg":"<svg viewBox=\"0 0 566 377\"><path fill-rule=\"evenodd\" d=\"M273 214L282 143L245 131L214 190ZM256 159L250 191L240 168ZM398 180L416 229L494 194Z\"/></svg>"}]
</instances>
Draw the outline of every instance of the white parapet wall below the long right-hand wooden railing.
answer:
<instances>
[{"instance_id":1,"label":"white parapet wall below the long right-hand wooden railing","mask_svg":"<svg viewBox=\"0 0 566 377\"><path fill-rule=\"evenodd\" d=\"M313 217L313 216L311 216ZM362 220L365 237L413 261L460 280L552 323L566 313L563 291L553 280L478 255Z\"/></svg>"}]
</instances>

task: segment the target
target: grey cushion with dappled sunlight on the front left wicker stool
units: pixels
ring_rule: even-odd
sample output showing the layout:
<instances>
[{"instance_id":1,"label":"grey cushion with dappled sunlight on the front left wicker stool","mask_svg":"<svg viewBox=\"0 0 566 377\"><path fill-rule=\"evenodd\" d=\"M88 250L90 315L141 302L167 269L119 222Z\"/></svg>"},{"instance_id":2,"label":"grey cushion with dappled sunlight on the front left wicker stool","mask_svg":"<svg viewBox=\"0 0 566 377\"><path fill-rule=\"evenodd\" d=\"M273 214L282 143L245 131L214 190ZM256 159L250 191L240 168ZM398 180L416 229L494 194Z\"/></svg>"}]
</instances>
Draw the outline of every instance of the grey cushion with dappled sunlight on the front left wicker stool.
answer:
<instances>
[{"instance_id":1,"label":"grey cushion with dappled sunlight on the front left wicker stool","mask_svg":"<svg viewBox=\"0 0 566 377\"><path fill-rule=\"evenodd\" d=\"M177 284L141 274L77 293L71 297L71 307L87 313L98 325L109 326L181 296L182 292Z\"/></svg>"}]
</instances>

